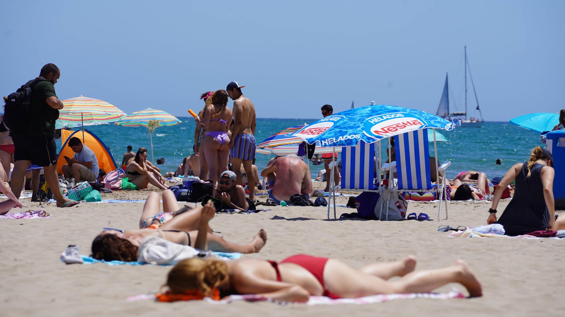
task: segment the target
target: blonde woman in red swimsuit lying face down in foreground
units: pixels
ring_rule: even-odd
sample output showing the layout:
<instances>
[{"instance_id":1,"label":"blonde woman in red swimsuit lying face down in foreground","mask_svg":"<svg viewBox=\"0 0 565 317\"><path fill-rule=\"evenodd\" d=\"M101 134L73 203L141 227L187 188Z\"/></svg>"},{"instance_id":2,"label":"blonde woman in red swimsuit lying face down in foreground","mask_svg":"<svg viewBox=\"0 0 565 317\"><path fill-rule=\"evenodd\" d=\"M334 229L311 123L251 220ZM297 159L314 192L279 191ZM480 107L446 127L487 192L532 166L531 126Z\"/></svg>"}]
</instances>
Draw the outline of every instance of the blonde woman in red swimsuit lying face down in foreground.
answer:
<instances>
[{"instance_id":1,"label":"blonde woman in red swimsuit lying face down in foreground","mask_svg":"<svg viewBox=\"0 0 565 317\"><path fill-rule=\"evenodd\" d=\"M258 294L276 301L306 302L310 295L355 298L376 294L427 293L460 283L470 297L483 294L481 284L463 260L437 270L414 271L416 259L375 263L355 270L337 259L300 254L281 262L260 259L190 258L167 276L169 297L194 295L219 300L229 294ZM400 279L388 281L393 276ZM221 294L221 295L220 295Z\"/></svg>"}]
</instances>

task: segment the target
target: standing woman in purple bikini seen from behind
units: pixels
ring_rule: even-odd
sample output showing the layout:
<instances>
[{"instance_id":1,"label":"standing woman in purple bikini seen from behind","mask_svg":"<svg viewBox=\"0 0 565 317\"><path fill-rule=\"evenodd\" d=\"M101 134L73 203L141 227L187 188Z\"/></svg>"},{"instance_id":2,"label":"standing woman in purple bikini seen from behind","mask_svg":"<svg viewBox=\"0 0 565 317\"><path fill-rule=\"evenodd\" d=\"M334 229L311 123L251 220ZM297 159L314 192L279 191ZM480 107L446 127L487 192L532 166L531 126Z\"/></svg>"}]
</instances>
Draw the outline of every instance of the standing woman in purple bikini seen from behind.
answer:
<instances>
[{"instance_id":1,"label":"standing woman in purple bikini seen from behind","mask_svg":"<svg viewBox=\"0 0 565 317\"><path fill-rule=\"evenodd\" d=\"M228 169L229 137L228 129L232 122L232 111L225 107L228 93L216 90L206 99L204 117L194 120L206 128L204 152L208 162L208 178L215 184L220 179L220 172Z\"/></svg>"}]
</instances>

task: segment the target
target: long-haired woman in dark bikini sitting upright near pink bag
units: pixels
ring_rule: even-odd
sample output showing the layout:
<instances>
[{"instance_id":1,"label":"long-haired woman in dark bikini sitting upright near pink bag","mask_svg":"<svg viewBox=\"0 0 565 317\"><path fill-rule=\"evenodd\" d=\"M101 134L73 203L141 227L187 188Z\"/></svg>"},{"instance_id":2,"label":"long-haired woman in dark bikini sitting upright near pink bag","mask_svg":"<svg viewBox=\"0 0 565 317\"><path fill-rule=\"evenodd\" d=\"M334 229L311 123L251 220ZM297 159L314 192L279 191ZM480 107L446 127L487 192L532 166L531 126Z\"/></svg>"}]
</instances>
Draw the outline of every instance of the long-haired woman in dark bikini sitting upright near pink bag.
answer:
<instances>
[{"instance_id":1,"label":"long-haired woman in dark bikini sitting upright near pink bag","mask_svg":"<svg viewBox=\"0 0 565 317\"><path fill-rule=\"evenodd\" d=\"M159 173L158 170L152 168L149 164L146 164L147 161L147 149L144 147L140 147L137 150L136 157L133 158L133 161L128 163L128 166L125 168L125 177L128 178L128 181L138 189L146 188L147 184L151 183L151 185L159 188L160 190L166 190L167 186L164 186L164 177ZM124 177L124 178L125 178Z\"/></svg>"}]
</instances>

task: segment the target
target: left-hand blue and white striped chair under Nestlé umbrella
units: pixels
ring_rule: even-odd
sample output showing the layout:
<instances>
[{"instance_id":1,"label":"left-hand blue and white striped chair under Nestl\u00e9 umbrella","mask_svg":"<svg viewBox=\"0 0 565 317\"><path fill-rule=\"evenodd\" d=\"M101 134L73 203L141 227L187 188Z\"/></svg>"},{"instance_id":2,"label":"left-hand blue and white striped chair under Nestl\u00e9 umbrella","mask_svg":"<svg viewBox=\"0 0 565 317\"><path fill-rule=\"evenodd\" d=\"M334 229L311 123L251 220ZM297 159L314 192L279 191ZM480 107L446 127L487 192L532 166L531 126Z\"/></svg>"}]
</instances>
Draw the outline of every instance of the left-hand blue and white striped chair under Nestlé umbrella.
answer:
<instances>
[{"instance_id":1,"label":"left-hand blue and white striped chair under Nestl\u00e9 umbrella","mask_svg":"<svg viewBox=\"0 0 565 317\"><path fill-rule=\"evenodd\" d=\"M377 191L373 190L375 175L375 143L359 142L354 147L341 148L341 183L337 188L348 191ZM333 176L333 173L330 175ZM326 177L328 177L326 175ZM333 195L336 187L333 187L331 178L329 199L333 196L333 218L336 218L336 196ZM329 219L328 204L328 219Z\"/></svg>"}]
</instances>

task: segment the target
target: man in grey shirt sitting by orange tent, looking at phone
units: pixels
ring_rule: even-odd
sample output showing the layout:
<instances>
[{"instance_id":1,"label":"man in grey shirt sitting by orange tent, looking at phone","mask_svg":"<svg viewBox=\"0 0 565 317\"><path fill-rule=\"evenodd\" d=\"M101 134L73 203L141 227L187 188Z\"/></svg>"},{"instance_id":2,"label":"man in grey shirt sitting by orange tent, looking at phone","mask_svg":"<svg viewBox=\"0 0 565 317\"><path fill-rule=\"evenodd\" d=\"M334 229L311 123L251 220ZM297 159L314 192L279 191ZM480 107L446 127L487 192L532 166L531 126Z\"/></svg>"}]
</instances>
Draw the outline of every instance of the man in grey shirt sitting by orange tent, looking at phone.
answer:
<instances>
[{"instance_id":1,"label":"man in grey shirt sitting by orange tent, looking at phone","mask_svg":"<svg viewBox=\"0 0 565 317\"><path fill-rule=\"evenodd\" d=\"M63 175L65 178L75 178L75 184L80 182L94 182L98 178L98 159L96 155L79 138L72 137L68 143L69 148L75 155L65 157L67 164L63 165Z\"/></svg>"}]
</instances>

